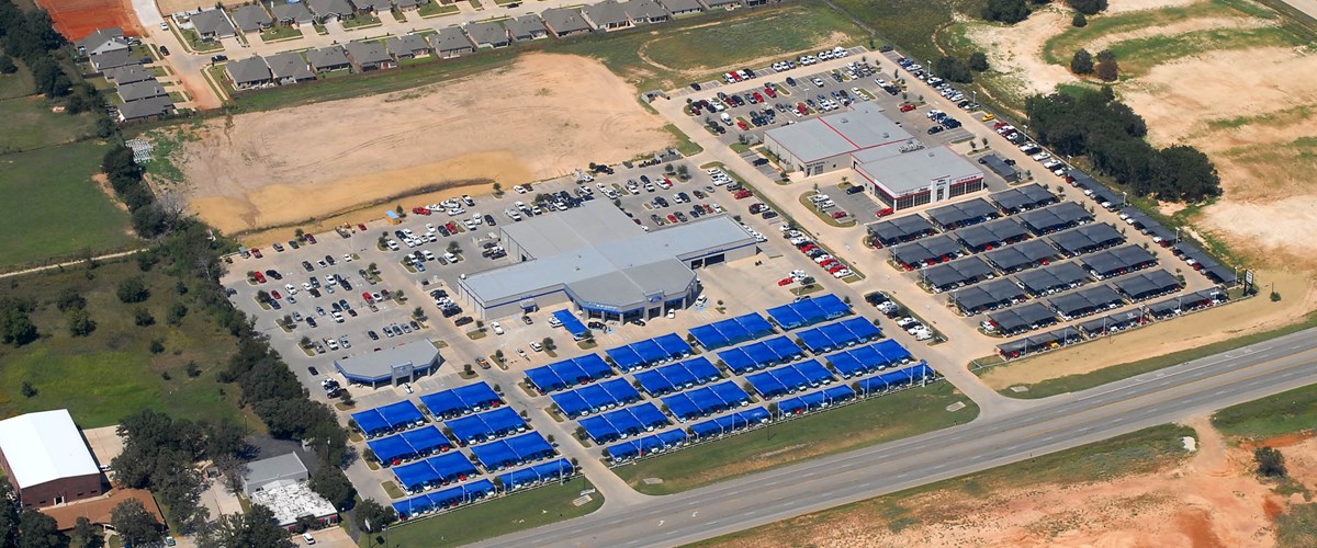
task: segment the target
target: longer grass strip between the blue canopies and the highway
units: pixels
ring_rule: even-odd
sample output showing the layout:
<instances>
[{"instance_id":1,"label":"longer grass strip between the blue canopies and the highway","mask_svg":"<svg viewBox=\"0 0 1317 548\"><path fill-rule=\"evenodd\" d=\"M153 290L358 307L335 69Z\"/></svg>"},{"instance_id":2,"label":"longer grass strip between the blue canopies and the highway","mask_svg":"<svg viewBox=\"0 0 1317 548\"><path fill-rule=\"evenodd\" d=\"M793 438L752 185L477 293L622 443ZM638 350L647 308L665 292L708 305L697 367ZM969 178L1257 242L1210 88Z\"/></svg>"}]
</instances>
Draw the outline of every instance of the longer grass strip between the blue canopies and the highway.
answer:
<instances>
[{"instance_id":1,"label":"longer grass strip between the blue canopies and the highway","mask_svg":"<svg viewBox=\"0 0 1317 548\"><path fill-rule=\"evenodd\" d=\"M641 460L614 472L641 493L669 494L973 421L979 407L954 390L950 382L910 389ZM967 407L946 410L957 401ZM662 478L662 484L647 485L643 480L648 477Z\"/></svg>"}]
</instances>

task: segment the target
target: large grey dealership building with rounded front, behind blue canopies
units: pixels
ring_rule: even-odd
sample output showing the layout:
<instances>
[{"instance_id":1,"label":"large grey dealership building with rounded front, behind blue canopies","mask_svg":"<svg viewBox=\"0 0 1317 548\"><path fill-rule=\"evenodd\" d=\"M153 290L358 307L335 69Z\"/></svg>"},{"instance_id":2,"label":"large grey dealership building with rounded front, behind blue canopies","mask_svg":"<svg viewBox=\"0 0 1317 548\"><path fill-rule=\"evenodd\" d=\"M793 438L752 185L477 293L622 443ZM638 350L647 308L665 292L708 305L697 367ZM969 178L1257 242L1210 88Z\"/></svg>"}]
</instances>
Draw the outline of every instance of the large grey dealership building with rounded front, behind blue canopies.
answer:
<instances>
[{"instance_id":1,"label":"large grey dealership building with rounded front, behind blue canopies","mask_svg":"<svg viewBox=\"0 0 1317 548\"><path fill-rule=\"evenodd\" d=\"M648 319L699 294L697 268L759 252L727 216L645 231L606 201L503 225L516 264L461 280L460 296L483 319L572 304L587 318Z\"/></svg>"}]
</instances>

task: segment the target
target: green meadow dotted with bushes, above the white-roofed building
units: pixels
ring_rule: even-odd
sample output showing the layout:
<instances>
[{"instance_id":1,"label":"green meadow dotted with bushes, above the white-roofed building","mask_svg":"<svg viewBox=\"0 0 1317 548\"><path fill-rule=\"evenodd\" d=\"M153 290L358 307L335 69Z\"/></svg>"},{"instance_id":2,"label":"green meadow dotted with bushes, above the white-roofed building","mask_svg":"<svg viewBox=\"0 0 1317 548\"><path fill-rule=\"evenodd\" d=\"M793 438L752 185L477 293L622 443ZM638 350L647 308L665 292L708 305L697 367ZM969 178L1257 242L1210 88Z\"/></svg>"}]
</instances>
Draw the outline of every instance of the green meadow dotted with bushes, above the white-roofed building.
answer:
<instances>
[{"instance_id":1,"label":"green meadow dotted with bushes, above the white-roofed building","mask_svg":"<svg viewBox=\"0 0 1317 548\"><path fill-rule=\"evenodd\" d=\"M215 372L229 356L233 339L219 330L209 315L195 309L190 296L180 296L175 280L161 272L141 272L128 259L101 264L91 271L71 267L40 275L21 276L0 285L3 297L37 301L32 314L41 339L14 348L0 347L0 417L68 407L83 427L115 424L126 414L155 409L190 419L237 419L234 402L238 389L215 381ZM115 294L120 280L142 276L151 296L144 304L125 305ZM63 288L75 288L87 300L87 311L96 322L88 336L68 334L67 319L54 305ZM167 310L176 302L190 309L183 322L166 323ZM138 327L133 310L145 306L155 325ZM165 343L165 352L148 351L151 339ZM196 361L199 377L188 377L186 367ZM162 377L169 373L170 378ZM30 382L37 396L25 397L20 388ZM228 394L224 394L228 390ZM249 421L257 426L259 421Z\"/></svg>"}]
</instances>

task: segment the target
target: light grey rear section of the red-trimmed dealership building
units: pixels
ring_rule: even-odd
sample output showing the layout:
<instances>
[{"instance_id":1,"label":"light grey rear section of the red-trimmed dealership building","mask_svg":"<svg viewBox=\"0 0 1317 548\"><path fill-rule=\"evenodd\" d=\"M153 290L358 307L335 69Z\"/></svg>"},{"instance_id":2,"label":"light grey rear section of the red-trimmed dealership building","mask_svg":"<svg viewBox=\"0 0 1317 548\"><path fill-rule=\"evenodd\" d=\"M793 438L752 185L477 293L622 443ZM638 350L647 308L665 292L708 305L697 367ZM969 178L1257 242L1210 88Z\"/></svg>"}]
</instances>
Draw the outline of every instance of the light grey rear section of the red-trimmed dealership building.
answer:
<instances>
[{"instance_id":1,"label":"light grey rear section of the red-trimmed dealership building","mask_svg":"<svg viewBox=\"0 0 1317 548\"><path fill-rule=\"evenodd\" d=\"M790 171L805 176L851 167L851 154L871 148L900 148L913 137L872 103L857 103L849 110L770 129L764 133L768 146Z\"/></svg>"}]
</instances>

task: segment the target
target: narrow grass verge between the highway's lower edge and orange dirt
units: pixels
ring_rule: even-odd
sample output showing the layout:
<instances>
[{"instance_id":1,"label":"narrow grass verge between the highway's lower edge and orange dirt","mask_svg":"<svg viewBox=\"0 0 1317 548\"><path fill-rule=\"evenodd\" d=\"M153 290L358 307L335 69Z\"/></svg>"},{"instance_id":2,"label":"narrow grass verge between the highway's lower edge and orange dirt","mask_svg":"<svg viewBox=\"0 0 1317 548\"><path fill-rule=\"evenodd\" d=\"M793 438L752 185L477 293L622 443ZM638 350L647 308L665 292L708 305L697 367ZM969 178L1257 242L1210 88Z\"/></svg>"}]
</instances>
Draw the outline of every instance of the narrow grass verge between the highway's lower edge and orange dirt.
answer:
<instances>
[{"instance_id":1,"label":"narrow grass verge between the highway's lower edge and orange dirt","mask_svg":"<svg viewBox=\"0 0 1317 548\"><path fill-rule=\"evenodd\" d=\"M900 531L906 527L940 523L957 516L944 516L938 511L939 503L965 507L994 489L1051 489L1054 485L1101 481L1163 469L1188 455L1181 439L1192 435L1193 428L1155 426L1105 442L806 514L694 545L814 545L811 535L834 524L869 523L876 530ZM856 520L855 516L861 519ZM860 531L856 534L861 535Z\"/></svg>"}]
</instances>

